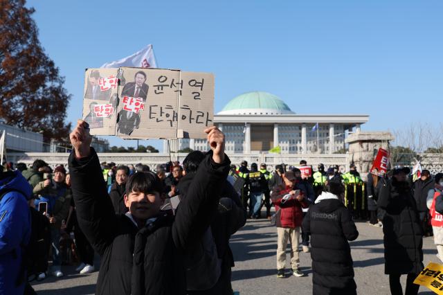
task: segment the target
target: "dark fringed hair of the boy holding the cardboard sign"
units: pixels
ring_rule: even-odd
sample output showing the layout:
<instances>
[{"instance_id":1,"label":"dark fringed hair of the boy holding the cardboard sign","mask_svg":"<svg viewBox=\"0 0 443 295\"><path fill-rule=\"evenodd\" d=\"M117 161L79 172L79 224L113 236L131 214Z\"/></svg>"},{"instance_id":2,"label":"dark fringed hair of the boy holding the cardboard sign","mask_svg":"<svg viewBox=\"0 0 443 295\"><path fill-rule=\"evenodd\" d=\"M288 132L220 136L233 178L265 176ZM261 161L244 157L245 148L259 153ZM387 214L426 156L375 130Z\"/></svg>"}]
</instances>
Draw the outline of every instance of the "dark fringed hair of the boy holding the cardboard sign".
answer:
<instances>
[{"instance_id":1,"label":"dark fringed hair of the boy holding the cardboard sign","mask_svg":"<svg viewBox=\"0 0 443 295\"><path fill-rule=\"evenodd\" d=\"M159 193L163 192L163 183L154 172L137 172L126 183L126 192Z\"/></svg>"}]
</instances>

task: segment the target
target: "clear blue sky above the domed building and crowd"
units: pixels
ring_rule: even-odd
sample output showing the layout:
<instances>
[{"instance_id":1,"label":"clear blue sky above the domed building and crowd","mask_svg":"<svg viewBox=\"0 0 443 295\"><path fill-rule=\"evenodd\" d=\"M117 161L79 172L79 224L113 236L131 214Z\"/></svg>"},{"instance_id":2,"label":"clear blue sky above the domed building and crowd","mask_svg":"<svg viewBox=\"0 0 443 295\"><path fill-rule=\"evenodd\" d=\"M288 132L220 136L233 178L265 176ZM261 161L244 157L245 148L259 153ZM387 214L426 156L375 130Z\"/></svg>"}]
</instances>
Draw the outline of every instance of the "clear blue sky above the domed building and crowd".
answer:
<instances>
[{"instance_id":1,"label":"clear blue sky above the domed building and crowd","mask_svg":"<svg viewBox=\"0 0 443 295\"><path fill-rule=\"evenodd\" d=\"M299 114L369 114L363 130L442 122L440 0L34 0L27 6L35 8L40 42L73 95L71 122L82 113L84 69L147 44L159 67L214 73L216 112L258 90ZM111 145L136 145L107 138Z\"/></svg>"}]
</instances>

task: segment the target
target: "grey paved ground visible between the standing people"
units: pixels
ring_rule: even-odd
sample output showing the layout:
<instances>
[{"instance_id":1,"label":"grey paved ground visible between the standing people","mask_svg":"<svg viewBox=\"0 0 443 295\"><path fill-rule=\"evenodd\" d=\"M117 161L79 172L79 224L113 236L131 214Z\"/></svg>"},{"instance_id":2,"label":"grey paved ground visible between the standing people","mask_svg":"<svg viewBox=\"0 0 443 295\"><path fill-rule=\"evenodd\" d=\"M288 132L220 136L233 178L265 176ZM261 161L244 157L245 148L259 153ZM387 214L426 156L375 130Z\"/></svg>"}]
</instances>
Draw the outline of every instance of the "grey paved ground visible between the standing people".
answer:
<instances>
[{"instance_id":1,"label":"grey paved ground visible between the standing people","mask_svg":"<svg viewBox=\"0 0 443 295\"><path fill-rule=\"evenodd\" d=\"M390 294L388 276L384 275L383 234L380 228L357 223L359 238L351 243L354 271L359 294ZM267 220L248 220L244 228L233 236L231 247L235 256L233 289L240 294L312 294L311 258L300 253L300 268L307 274L302 278L277 278L275 250L277 234ZM424 239L424 265L437 261L433 238ZM289 260L289 255L288 255ZM98 265L98 260L96 261ZM289 265L287 265L289 268ZM74 267L65 267L66 276L50 277L33 283L38 294L93 294L97 272L75 274ZM403 285L406 278L403 278ZM421 287L419 294L433 294Z\"/></svg>"}]
</instances>

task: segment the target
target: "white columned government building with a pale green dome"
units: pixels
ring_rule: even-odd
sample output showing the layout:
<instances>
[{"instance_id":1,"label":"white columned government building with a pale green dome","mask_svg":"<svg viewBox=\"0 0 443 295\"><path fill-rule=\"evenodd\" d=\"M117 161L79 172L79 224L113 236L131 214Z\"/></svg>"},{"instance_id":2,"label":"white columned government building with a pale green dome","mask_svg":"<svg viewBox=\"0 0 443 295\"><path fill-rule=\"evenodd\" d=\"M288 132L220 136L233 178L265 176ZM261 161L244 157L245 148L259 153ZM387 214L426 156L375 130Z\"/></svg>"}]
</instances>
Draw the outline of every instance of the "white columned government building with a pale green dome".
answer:
<instances>
[{"instance_id":1,"label":"white columned government building with a pale green dome","mask_svg":"<svg viewBox=\"0 0 443 295\"><path fill-rule=\"evenodd\" d=\"M333 154L345 148L349 132L359 132L368 120L368 115L359 114L296 114L277 96L261 91L233 98L214 116L226 136L228 154L266 153L273 147L280 147L281 154ZM206 139L170 141L173 152L186 147L207 151L208 143ZM163 151L168 152L167 141Z\"/></svg>"}]
</instances>

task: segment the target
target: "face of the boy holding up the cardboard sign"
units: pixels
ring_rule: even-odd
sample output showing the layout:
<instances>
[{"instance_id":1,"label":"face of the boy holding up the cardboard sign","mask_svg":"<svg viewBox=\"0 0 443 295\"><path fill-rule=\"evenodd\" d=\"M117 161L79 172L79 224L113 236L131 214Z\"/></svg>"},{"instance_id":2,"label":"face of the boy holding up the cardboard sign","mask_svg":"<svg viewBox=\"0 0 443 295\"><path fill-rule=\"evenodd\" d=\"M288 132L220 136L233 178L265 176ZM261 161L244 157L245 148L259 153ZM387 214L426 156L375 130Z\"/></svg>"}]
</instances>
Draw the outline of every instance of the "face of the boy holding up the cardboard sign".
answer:
<instances>
[{"instance_id":1,"label":"face of the boy holding up the cardboard sign","mask_svg":"<svg viewBox=\"0 0 443 295\"><path fill-rule=\"evenodd\" d=\"M129 213L138 220L147 220L159 214L161 199L157 192L139 193L134 190L125 195L125 206L129 208Z\"/></svg>"}]
</instances>

